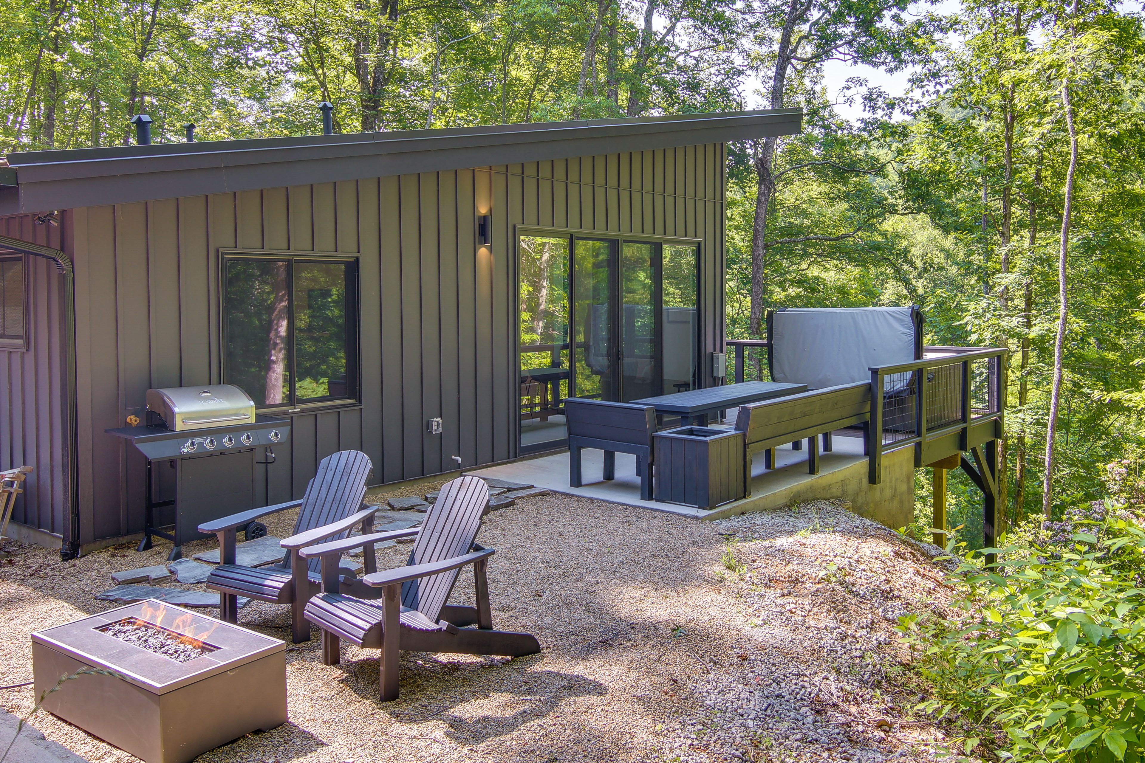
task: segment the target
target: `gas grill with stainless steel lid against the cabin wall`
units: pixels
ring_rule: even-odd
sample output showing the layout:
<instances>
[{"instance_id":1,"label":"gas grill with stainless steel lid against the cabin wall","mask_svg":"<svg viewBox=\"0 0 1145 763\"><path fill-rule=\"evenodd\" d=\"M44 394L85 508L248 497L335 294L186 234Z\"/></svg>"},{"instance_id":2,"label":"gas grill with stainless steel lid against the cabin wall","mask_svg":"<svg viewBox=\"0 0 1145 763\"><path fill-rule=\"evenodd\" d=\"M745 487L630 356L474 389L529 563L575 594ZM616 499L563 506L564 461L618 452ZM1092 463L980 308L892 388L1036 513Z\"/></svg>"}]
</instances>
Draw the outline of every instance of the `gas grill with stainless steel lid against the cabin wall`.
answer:
<instances>
[{"instance_id":1,"label":"gas grill with stainless steel lid against the cabin wall","mask_svg":"<svg viewBox=\"0 0 1145 763\"><path fill-rule=\"evenodd\" d=\"M256 414L251 396L232 384L149 389L147 416L143 426L105 431L147 458L147 527L139 550L151 548L152 535L166 538L175 545L168 557L174 561L183 543L205 538L199 524L255 508L255 451L266 448L261 463L273 463L271 447L286 442L291 422ZM159 530L171 525L174 534ZM245 530L247 539L266 534L256 522Z\"/></svg>"}]
</instances>

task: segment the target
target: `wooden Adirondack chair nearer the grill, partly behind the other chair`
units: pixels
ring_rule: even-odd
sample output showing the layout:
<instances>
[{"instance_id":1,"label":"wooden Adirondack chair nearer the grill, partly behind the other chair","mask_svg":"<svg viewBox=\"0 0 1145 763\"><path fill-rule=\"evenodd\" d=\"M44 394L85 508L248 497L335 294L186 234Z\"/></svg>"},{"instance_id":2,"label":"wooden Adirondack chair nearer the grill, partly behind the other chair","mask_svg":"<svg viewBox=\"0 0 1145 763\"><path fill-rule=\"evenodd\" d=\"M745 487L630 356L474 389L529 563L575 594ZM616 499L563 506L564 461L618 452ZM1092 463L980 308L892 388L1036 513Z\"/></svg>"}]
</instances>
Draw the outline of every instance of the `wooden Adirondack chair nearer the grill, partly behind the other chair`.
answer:
<instances>
[{"instance_id":1,"label":"wooden Adirondack chair nearer the grill, partly behind the other chair","mask_svg":"<svg viewBox=\"0 0 1145 763\"><path fill-rule=\"evenodd\" d=\"M317 558L307 562L299 555L299 549L329 538L345 538L358 523L362 524L363 535L372 532L378 507L362 503L365 480L372 468L365 453L341 451L322 460L301 500L264 506L199 525L200 533L219 537L220 564L211 571L206 583L207 588L221 594L220 617L227 622L238 622L238 596L291 604L294 643L309 641L310 623L302 615L302 607L321 589L321 562ZM302 510L294 523L294 534L282 541L282 547L286 549L282 562L266 567L235 564L235 531L238 527L268 514L299 506ZM377 570L373 546L366 547L364 563L366 572ZM342 571L341 578L348 590L360 595L372 593L369 588L355 587L358 581L348 570Z\"/></svg>"}]
</instances>

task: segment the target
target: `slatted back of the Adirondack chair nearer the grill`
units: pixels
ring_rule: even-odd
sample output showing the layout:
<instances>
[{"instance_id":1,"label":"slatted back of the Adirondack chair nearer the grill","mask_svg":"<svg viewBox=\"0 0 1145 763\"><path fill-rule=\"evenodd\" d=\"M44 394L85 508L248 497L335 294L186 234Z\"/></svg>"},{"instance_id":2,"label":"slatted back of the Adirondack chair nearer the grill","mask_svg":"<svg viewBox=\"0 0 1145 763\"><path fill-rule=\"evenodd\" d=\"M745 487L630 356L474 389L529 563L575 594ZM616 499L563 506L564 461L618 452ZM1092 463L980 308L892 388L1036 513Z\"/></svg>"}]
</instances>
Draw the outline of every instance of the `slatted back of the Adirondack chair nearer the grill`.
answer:
<instances>
[{"instance_id":1,"label":"slatted back of the Adirondack chair nearer the grill","mask_svg":"<svg viewBox=\"0 0 1145 763\"><path fill-rule=\"evenodd\" d=\"M345 519L361 509L362 499L365 498L365 483L372 469L370 456L361 451L339 451L324 458L318 463L314 479L306 487L302 508L294 523L294 534ZM341 540L348 533L347 530L329 540ZM289 551L283 557L283 564L290 564ZM310 572L322 574L321 557L315 557L307 564Z\"/></svg>"}]
</instances>

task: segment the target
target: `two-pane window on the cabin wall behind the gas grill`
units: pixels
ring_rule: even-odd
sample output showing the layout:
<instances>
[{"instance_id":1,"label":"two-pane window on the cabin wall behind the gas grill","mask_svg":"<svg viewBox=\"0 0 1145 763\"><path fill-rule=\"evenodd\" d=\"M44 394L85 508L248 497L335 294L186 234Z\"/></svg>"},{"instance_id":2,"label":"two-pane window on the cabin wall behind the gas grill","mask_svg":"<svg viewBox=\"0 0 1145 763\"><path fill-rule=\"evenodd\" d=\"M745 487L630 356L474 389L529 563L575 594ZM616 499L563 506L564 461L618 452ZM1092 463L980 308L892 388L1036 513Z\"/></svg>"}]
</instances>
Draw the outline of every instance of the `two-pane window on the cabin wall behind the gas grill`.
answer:
<instances>
[{"instance_id":1,"label":"two-pane window on the cabin wall behind the gas grill","mask_svg":"<svg viewBox=\"0 0 1145 763\"><path fill-rule=\"evenodd\" d=\"M224 255L223 381L263 408L358 399L357 261Z\"/></svg>"}]
</instances>

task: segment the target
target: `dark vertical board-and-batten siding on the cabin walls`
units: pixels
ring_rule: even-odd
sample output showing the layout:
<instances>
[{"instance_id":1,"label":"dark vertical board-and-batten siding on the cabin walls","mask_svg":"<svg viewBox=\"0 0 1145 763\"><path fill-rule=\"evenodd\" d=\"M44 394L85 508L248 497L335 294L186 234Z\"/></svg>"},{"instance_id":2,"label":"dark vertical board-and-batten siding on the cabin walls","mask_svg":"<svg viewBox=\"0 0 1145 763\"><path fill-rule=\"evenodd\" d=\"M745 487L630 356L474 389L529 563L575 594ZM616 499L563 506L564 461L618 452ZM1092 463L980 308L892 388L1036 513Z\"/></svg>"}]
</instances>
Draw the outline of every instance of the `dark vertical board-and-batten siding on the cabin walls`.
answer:
<instances>
[{"instance_id":1,"label":"dark vertical board-and-batten siding on the cabin walls","mask_svg":"<svg viewBox=\"0 0 1145 763\"><path fill-rule=\"evenodd\" d=\"M103 430L139 412L150 387L221 381L220 249L360 257L362 405L293 415L291 442L259 467L260 501L300 496L335 450L363 450L373 484L451 470L453 455L465 467L516 455L518 225L703 239L711 383L706 356L722 349L724 156L722 145L687 146L89 207L66 215L70 241L33 230L27 215L0 220L0 232L76 261L81 541L142 528L141 469L125 470L133 455ZM490 247L475 239L483 204ZM47 329L33 331L35 351L0 352L5 468L62 458L52 430L62 337L58 320L39 320L61 312L58 284L49 263L29 265L32 324ZM431 435L436 416L444 431ZM57 471L38 469L17 522L60 532Z\"/></svg>"}]
</instances>

